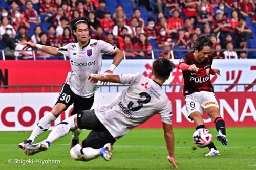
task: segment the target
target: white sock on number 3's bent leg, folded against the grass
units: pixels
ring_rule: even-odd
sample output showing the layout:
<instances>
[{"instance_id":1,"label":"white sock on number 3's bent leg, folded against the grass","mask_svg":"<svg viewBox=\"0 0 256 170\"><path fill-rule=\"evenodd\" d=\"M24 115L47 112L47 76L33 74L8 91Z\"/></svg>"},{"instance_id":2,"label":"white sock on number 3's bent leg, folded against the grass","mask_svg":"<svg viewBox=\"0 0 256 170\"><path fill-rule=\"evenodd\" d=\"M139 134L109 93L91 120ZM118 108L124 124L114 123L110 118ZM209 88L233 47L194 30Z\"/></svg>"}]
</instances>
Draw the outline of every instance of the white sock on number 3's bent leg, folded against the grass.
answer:
<instances>
[{"instance_id":1,"label":"white sock on number 3's bent leg, folded against the grass","mask_svg":"<svg viewBox=\"0 0 256 170\"><path fill-rule=\"evenodd\" d=\"M90 147L82 148L80 144L77 144L70 150L70 155L76 160L81 160L82 157L83 160L89 161L99 157L99 151L100 149L93 149Z\"/></svg>"}]
</instances>

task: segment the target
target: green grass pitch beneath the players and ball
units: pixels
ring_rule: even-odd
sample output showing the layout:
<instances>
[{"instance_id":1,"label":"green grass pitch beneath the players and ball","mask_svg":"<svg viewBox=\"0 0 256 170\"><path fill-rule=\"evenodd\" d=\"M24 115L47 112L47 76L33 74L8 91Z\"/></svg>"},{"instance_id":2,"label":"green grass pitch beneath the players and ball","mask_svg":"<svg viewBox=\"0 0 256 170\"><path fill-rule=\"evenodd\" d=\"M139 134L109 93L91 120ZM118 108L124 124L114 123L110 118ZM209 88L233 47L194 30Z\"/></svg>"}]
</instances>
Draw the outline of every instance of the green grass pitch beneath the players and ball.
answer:
<instances>
[{"instance_id":1,"label":"green grass pitch beneath the players and ball","mask_svg":"<svg viewBox=\"0 0 256 170\"><path fill-rule=\"evenodd\" d=\"M215 129L210 131L217 135ZM84 139L89 131L83 131ZM223 147L214 137L220 156L204 157L208 148L193 150L193 128L175 128L175 155L179 169L256 169L256 128L227 128L229 145ZM46 152L27 156L18 149L19 142L31 132L0 132L0 169L170 169L162 129L134 129L114 144L113 158L104 161L101 157L89 162L74 161L69 155L71 134L54 142ZM46 138L41 135L36 142ZM8 161L13 161L8 163ZM15 164L17 160L35 161ZM56 164L36 163L41 160L59 160ZM15 163L14 163L15 161Z\"/></svg>"}]
</instances>

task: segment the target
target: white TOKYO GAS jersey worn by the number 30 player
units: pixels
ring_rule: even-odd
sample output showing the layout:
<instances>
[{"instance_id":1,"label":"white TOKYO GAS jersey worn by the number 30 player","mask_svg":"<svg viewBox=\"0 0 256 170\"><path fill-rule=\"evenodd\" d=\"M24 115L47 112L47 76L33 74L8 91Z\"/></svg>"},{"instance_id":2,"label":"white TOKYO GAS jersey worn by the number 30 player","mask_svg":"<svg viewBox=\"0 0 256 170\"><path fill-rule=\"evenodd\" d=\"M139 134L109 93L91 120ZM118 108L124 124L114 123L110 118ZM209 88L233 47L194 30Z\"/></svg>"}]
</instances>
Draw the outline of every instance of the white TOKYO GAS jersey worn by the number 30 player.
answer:
<instances>
[{"instance_id":1,"label":"white TOKYO GAS jersey worn by the number 30 player","mask_svg":"<svg viewBox=\"0 0 256 170\"><path fill-rule=\"evenodd\" d=\"M91 73L100 72L102 55L112 54L116 47L101 40L89 39L87 45L80 47L78 43L69 43L58 48L58 52L69 56L71 72L67 76L67 84L71 90L83 98L90 98L97 90L97 83L88 81Z\"/></svg>"}]
</instances>

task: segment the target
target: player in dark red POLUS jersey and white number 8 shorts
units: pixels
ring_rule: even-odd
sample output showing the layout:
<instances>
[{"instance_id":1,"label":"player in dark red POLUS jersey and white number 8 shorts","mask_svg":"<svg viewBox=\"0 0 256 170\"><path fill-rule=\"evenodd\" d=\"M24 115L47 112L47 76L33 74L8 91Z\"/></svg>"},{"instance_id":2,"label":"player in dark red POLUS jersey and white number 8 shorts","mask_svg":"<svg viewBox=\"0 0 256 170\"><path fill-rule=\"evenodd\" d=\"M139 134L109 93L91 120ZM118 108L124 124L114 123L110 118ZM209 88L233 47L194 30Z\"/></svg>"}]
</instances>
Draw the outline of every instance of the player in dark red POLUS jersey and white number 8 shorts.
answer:
<instances>
[{"instance_id":1,"label":"player in dark red POLUS jersey and white number 8 shorts","mask_svg":"<svg viewBox=\"0 0 256 170\"><path fill-rule=\"evenodd\" d=\"M227 145L226 127L219 112L219 104L210 81L210 74L220 75L218 68L211 68L213 56L210 54L212 42L210 35L200 35L193 43L194 52L184 55L179 68L184 78L184 96L188 118L193 120L196 129L206 128L203 110L207 112L219 134L217 140ZM210 152L205 156L220 155L214 143L208 145Z\"/></svg>"}]
</instances>

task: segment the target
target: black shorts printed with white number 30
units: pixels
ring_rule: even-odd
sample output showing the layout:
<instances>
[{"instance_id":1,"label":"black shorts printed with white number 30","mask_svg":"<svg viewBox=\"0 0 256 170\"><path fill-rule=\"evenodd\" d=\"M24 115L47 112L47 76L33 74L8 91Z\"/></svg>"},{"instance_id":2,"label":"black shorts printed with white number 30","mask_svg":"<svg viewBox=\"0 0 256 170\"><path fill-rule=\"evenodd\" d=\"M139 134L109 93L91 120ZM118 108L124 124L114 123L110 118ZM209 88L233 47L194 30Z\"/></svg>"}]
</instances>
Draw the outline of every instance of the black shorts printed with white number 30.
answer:
<instances>
[{"instance_id":1,"label":"black shorts printed with white number 30","mask_svg":"<svg viewBox=\"0 0 256 170\"><path fill-rule=\"evenodd\" d=\"M70 86L65 83L62 87L62 90L59 93L56 104L57 103L65 104L68 108L70 105L74 103L74 108L71 112L71 115L74 115L79 113L82 110L91 109L93 102L94 102L94 95L91 96L90 98L82 98L81 96L75 94L70 89Z\"/></svg>"}]
</instances>

